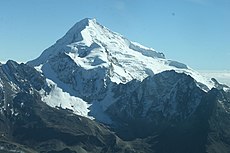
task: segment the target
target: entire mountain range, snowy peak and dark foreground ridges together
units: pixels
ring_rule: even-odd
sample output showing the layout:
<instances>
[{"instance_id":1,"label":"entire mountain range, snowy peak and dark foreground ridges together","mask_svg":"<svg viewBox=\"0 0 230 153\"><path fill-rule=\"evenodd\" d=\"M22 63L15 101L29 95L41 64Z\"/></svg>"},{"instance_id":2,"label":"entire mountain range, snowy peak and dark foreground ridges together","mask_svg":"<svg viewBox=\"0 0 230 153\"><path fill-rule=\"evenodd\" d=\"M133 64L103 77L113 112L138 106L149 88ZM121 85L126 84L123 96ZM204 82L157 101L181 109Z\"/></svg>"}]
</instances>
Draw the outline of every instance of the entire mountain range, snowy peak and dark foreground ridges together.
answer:
<instances>
[{"instance_id":1,"label":"entire mountain range, snowy peak and dark foreground ridges together","mask_svg":"<svg viewBox=\"0 0 230 153\"><path fill-rule=\"evenodd\" d=\"M227 85L95 19L1 64L0 100L0 152L230 152Z\"/></svg>"}]
</instances>

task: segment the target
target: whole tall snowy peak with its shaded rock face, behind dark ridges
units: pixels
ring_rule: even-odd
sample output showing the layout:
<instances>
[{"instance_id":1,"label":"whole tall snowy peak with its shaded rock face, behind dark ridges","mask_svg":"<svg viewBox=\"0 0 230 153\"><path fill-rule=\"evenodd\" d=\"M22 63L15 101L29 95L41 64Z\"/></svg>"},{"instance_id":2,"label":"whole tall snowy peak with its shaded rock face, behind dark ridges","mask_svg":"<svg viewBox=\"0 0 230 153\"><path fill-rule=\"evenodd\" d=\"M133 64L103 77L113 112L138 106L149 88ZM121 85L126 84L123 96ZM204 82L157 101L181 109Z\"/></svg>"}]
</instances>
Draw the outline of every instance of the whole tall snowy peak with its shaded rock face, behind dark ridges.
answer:
<instances>
[{"instance_id":1,"label":"whole tall snowy peak with its shaded rock face, behind dark ridges","mask_svg":"<svg viewBox=\"0 0 230 153\"><path fill-rule=\"evenodd\" d=\"M53 90L60 89L69 96L79 97L82 99L81 104L93 104L89 108L91 115L106 122L109 119L103 112L116 101L113 87L117 84L126 84L134 79L142 81L148 76L175 70L193 77L197 86L204 91L214 87L212 81L185 64L166 59L163 53L129 41L100 25L95 19L76 23L64 37L28 64L56 84ZM59 106L60 103L51 101L57 99L56 94L43 99L51 106ZM66 106L71 106L73 97L64 101L68 103ZM84 113L76 113L87 116L89 104L81 106L84 106L80 108Z\"/></svg>"}]
</instances>

